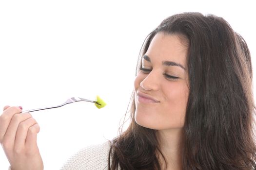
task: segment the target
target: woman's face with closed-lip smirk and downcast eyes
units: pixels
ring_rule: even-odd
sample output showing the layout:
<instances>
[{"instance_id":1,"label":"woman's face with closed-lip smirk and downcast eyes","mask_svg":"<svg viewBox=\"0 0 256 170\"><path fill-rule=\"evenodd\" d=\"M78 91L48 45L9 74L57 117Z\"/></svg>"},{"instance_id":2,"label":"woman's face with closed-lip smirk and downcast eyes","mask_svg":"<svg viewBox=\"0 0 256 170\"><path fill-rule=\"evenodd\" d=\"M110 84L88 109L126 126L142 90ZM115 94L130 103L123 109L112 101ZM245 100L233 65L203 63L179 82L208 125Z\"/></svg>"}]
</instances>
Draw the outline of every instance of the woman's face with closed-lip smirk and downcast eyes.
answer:
<instances>
[{"instance_id":1,"label":"woman's face with closed-lip smirk and downcast eyes","mask_svg":"<svg viewBox=\"0 0 256 170\"><path fill-rule=\"evenodd\" d=\"M146 128L182 128L189 94L187 46L175 34L158 33L135 79L135 120Z\"/></svg>"}]
</instances>

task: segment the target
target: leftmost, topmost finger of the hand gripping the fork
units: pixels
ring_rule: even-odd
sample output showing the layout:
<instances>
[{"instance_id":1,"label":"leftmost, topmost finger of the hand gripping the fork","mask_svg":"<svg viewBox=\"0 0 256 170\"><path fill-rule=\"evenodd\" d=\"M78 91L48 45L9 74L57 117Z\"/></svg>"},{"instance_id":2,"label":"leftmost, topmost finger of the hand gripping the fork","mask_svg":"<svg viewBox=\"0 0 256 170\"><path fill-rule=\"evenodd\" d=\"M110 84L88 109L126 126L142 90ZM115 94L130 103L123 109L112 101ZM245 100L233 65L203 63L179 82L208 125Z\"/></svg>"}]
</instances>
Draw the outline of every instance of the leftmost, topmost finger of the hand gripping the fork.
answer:
<instances>
[{"instance_id":1,"label":"leftmost, topmost finger of the hand gripping the fork","mask_svg":"<svg viewBox=\"0 0 256 170\"><path fill-rule=\"evenodd\" d=\"M22 110L19 107L10 107L5 106L2 115L0 116L0 143L3 141L3 137L6 134L7 128L13 118L17 113L20 113Z\"/></svg>"}]
</instances>

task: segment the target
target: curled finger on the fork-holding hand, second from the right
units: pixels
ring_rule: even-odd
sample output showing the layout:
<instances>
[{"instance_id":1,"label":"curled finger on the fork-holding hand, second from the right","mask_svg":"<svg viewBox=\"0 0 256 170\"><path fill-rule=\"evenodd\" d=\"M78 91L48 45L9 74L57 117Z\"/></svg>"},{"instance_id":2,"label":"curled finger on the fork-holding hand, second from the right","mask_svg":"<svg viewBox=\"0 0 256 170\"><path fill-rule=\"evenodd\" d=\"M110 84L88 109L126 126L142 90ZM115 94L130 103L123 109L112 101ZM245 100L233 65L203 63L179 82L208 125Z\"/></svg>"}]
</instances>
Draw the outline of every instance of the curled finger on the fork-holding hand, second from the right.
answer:
<instances>
[{"instance_id":1,"label":"curled finger on the fork-holding hand, second from the right","mask_svg":"<svg viewBox=\"0 0 256 170\"><path fill-rule=\"evenodd\" d=\"M15 150L16 149L19 150L25 147L25 141L26 141L28 131L36 123L37 121L32 117L20 122L17 129L16 137L15 137L15 146L14 146Z\"/></svg>"}]
</instances>

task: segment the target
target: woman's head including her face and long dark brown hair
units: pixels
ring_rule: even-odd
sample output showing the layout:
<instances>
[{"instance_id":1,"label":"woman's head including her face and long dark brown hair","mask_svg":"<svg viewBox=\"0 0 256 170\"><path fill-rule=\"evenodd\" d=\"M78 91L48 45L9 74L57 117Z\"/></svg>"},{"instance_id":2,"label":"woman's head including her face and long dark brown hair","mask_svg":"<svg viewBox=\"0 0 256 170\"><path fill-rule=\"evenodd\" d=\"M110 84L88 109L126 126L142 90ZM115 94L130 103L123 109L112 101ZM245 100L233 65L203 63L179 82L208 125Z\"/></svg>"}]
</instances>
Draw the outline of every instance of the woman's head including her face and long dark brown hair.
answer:
<instances>
[{"instance_id":1,"label":"woman's head including her face and long dark brown hair","mask_svg":"<svg viewBox=\"0 0 256 170\"><path fill-rule=\"evenodd\" d=\"M182 128L183 169L256 168L251 56L221 17L163 20L141 48L131 106L131 124L114 141L123 167L160 169L156 130ZM137 160L130 167L127 155Z\"/></svg>"}]
</instances>

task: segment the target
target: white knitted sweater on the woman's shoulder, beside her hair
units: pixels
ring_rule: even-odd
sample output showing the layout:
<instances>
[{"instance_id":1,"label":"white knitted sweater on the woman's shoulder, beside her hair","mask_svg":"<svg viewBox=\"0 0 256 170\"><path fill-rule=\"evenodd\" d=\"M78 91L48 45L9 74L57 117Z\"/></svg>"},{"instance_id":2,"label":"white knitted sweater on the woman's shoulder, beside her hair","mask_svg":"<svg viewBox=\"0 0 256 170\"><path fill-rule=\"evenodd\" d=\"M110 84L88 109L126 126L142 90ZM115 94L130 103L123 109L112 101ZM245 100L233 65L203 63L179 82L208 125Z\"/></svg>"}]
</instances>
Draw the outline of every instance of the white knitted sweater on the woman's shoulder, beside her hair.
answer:
<instances>
[{"instance_id":1,"label":"white knitted sweater on the woman's shoulder, beside her hair","mask_svg":"<svg viewBox=\"0 0 256 170\"><path fill-rule=\"evenodd\" d=\"M110 141L83 148L68 159L61 170L107 170Z\"/></svg>"}]
</instances>

